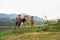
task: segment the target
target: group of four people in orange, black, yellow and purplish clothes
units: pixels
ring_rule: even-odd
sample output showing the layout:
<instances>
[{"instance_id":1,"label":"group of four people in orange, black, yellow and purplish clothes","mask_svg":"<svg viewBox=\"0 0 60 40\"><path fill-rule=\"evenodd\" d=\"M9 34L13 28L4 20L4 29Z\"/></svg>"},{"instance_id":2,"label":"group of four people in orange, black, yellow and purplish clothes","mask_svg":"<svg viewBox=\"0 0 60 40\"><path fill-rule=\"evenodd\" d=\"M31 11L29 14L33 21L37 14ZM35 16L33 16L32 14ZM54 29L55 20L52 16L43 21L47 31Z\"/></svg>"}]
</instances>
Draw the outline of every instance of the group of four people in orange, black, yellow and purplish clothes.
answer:
<instances>
[{"instance_id":1,"label":"group of four people in orange, black, yellow and purplish clothes","mask_svg":"<svg viewBox=\"0 0 60 40\"><path fill-rule=\"evenodd\" d=\"M31 16L31 17L29 17L28 15L26 16L24 16L24 18L21 18L21 15L18 15L18 17L16 17L16 26L18 27L18 28L20 28L20 26L21 26L21 23L23 23L23 25L24 24L31 24L31 26L34 26L34 19L33 19L34 17L33 16Z\"/></svg>"}]
</instances>

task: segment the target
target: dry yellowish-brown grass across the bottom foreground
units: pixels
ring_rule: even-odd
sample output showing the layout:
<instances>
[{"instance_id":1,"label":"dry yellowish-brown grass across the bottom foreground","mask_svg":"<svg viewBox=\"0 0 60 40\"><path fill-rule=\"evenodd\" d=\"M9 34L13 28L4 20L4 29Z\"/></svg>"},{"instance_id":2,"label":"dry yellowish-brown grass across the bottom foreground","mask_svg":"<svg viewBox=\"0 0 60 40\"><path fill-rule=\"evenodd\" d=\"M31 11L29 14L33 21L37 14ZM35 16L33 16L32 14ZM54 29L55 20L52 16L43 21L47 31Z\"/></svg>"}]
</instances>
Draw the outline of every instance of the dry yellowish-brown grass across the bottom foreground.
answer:
<instances>
[{"instance_id":1,"label":"dry yellowish-brown grass across the bottom foreground","mask_svg":"<svg viewBox=\"0 0 60 40\"><path fill-rule=\"evenodd\" d=\"M5 40L60 40L60 32L34 32L7 36Z\"/></svg>"}]
</instances>

